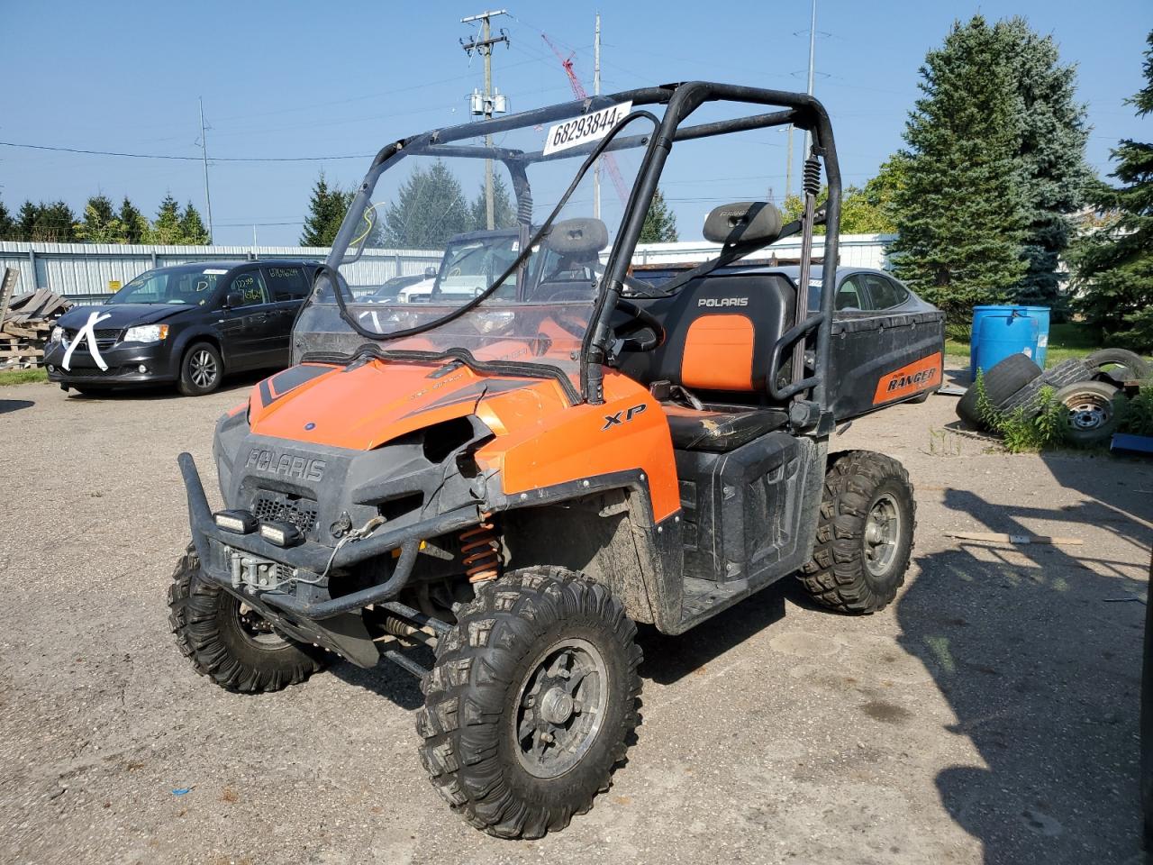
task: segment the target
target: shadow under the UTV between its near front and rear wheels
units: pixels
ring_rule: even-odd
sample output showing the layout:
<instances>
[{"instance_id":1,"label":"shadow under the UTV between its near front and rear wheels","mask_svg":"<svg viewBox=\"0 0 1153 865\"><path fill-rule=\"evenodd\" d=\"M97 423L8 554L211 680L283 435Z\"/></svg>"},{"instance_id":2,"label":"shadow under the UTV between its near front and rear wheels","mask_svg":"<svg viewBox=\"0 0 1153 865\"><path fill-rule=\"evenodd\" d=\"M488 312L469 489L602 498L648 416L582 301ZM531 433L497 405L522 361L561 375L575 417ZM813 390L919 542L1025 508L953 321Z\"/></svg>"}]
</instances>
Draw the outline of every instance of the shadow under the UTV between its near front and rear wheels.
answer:
<instances>
[{"instance_id":1,"label":"shadow under the UTV between its near front and rear wheels","mask_svg":"<svg viewBox=\"0 0 1153 865\"><path fill-rule=\"evenodd\" d=\"M787 588L793 582L786 577L679 637L639 625L636 641L645 653L641 677L669 685L701 671L733 646L784 618Z\"/></svg>"}]
</instances>

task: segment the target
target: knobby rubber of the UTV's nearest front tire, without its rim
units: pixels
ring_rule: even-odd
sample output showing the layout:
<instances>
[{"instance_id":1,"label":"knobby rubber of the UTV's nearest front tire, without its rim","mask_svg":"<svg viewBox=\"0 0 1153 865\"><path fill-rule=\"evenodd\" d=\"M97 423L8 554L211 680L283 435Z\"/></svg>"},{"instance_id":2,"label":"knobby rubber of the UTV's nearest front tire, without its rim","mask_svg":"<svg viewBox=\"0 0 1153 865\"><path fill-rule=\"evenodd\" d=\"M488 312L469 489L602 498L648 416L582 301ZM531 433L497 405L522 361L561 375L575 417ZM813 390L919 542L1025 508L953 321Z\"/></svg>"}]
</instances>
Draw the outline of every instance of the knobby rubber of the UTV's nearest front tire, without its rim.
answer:
<instances>
[{"instance_id":1,"label":"knobby rubber of the UTV's nearest front tire, without its rim","mask_svg":"<svg viewBox=\"0 0 1153 865\"><path fill-rule=\"evenodd\" d=\"M591 808L640 723L635 634L605 586L563 567L521 569L483 585L437 646L416 720L421 762L450 807L503 838L542 837ZM568 635L593 641L604 655L608 702L581 761L559 777L538 778L513 751L510 714L536 655Z\"/></svg>"}]
</instances>

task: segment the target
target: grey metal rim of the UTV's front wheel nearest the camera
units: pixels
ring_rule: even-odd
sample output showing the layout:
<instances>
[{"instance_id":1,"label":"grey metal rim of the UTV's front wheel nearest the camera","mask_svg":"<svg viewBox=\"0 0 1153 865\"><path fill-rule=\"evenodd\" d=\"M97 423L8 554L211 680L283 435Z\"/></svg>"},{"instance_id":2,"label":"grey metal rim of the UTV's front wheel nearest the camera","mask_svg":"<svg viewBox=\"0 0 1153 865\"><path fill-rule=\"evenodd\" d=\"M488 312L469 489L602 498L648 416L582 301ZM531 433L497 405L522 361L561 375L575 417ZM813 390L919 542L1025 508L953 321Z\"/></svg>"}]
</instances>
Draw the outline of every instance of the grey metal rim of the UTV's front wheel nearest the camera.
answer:
<instances>
[{"instance_id":1,"label":"grey metal rim of the UTV's front wheel nearest the camera","mask_svg":"<svg viewBox=\"0 0 1153 865\"><path fill-rule=\"evenodd\" d=\"M588 640L558 640L528 668L517 692L512 737L520 765L536 777L573 768L596 740L609 701L609 674Z\"/></svg>"}]
</instances>

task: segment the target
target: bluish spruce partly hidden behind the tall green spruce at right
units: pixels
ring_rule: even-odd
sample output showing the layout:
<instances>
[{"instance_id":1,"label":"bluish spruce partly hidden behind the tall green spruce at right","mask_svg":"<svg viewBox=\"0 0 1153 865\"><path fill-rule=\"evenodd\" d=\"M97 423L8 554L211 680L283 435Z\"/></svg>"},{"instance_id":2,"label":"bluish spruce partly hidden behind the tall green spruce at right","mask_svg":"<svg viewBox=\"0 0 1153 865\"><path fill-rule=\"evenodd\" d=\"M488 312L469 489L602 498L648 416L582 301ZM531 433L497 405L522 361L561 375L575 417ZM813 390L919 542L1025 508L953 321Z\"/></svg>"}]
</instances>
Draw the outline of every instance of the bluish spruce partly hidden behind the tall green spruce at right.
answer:
<instances>
[{"instance_id":1,"label":"bluish spruce partly hidden behind the tall green spruce at right","mask_svg":"<svg viewBox=\"0 0 1153 865\"><path fill-rule=\"evenodd\" d=\"M1085 203L1092 180L1085 161L1085 106L1075 98L1077 69L1061 63L1052 36L1038 36L1022 17L998 22L995 30L1012 69L1020 130L1017 171L1027 223L1027 270L1016 300L1058 307L1057 265L1069 246L1069 215Z\"/></svg>"}]
</instances>

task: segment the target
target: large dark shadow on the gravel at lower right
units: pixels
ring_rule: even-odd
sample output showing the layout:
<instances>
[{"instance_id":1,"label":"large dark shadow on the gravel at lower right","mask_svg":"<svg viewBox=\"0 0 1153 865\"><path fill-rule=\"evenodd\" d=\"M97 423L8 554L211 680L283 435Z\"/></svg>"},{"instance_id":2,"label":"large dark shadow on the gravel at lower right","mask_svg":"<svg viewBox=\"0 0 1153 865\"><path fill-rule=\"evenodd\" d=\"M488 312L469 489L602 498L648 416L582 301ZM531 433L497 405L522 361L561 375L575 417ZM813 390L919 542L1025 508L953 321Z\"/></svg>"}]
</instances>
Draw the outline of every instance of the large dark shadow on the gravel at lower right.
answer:
<instances>
[{"instance_id":1,"label":"large dark shadow on the gravel at lower right","mask_svg":"<svg viewBox=\"0 0 1153 865\"><path fill-rule=\"evenodd\" d=\"M1147 550L1141 505L1115 495L1116 471L1107 476L1092 460L1054 459L1054 475L1094 501L1003 507L949 490L945 505L1009 534L1032 534L1022 519L1043 518L1065 524L1054 534L1078 536L1078 525L1108 517L1109 531ZM1143 561L1110 561L1091 543L1010 552L960 542L918 558L921 573L897 606L899 642L956 714L947 730L969 737L987 766L956 766L936 778L952 818L984 844L986 863L1138 860L1145 608L1137 599L1147 582L1132 563Z\"/></svg>"}]
</instances>

